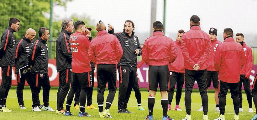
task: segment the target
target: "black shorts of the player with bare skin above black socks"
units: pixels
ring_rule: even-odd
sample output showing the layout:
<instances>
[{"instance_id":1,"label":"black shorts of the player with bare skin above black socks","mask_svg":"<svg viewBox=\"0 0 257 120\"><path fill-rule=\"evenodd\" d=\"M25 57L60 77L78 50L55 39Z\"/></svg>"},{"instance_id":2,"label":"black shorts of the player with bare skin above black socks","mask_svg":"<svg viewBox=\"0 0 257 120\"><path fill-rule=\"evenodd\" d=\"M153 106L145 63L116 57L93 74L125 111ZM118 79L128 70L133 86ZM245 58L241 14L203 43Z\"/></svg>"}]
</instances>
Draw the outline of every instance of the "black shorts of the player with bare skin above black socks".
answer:
<instances>
[{"instance_id":1,"label":"black shorts of the player with bare skin above black socks","mask_svg":"<svg viewBox=\"0 0 257 120\"><path fill-rule=\"evenodd\" d=\"M168 91L169 89L169 67L164 66L149 66L148 72L148 91L157 91L158 84L160 91Z\"/></svg>"}]
</instances>

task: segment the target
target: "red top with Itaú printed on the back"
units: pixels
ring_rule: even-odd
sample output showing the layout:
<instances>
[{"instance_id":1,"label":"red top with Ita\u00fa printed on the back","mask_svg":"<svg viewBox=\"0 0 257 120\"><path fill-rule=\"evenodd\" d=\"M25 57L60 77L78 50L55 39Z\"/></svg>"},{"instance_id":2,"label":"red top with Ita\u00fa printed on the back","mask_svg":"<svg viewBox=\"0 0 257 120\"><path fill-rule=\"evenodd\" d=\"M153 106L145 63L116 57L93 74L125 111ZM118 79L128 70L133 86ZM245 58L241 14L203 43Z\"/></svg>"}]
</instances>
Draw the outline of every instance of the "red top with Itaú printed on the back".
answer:
<instances>
[{"instance_id":1,"label":"red top with Ita\u00fa printed on the back","mask_svg":"<svg viewBox=\"0 0 257 120\"><path fill-rule=\"evenodd\" d=\"M91 65L87 58L90 41L87 36L76 31L70 36L72 51L71 67L74 73L85 73L91 71Z\"/></svg>"}]
</instances>

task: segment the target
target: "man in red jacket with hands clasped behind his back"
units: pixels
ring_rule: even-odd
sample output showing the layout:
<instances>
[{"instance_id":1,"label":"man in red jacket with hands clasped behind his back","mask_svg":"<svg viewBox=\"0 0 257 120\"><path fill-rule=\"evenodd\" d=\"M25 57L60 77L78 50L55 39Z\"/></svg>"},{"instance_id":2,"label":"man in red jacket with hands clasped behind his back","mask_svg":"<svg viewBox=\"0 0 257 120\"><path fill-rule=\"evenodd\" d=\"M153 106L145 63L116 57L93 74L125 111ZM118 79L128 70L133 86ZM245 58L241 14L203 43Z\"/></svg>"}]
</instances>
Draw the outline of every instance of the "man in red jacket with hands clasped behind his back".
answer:
<instances>
[{"instance_id":1,"label":"man in red jacket with hands clasped behind his back","mask_svg":"<svg viewBox=\"0 0 257 120\"><path fill-rule=\"evenodd\" d=\"M185 105L186 118L191 120L191 94L195 81L197 81L202 98L203 120L208 120L207 95L207 62L211 55L211 39L201 30L200 18L193 15L190 18L190 31L182 36L181 51L185 63Z\"/></svg>"}]
</instances>

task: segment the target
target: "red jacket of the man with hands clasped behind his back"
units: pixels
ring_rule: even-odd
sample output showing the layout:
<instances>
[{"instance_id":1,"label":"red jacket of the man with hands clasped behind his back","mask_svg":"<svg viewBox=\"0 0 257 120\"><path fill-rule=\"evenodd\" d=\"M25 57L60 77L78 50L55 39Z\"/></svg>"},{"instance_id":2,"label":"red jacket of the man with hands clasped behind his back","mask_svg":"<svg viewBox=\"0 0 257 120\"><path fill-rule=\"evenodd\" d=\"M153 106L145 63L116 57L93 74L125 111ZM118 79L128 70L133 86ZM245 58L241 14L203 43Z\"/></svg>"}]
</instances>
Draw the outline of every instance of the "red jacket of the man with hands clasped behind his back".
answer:
<instances>
[{"instance_id":1,"label":"red jacket of the man with hands clasped behind his back","mask_svg":"<svg viewBox=\"0 0 257 120\"><path fill-rule=\"evenodd\" d=\"M193 66L198 64L200 70L205 70L208 66L206 60L211 55L211 47L209 35L202 31L200 26L191 26L190 30L183 34L181 41L185 69L193 70Z\"/></svg>"}]
</instances>

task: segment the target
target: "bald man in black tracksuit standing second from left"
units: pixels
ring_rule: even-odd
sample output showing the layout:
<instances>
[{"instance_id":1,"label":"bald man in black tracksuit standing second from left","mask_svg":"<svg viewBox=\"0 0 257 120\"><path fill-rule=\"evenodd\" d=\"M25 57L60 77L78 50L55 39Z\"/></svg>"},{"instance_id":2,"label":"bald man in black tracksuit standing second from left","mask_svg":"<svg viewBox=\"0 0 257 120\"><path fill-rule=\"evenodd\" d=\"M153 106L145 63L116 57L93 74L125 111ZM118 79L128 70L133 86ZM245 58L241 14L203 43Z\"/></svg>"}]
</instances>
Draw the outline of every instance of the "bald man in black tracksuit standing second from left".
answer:
<instances>
[{"instance_id":1,"label":"bald man in black tracksuit standing second from left","mask_svg":"<svg viewBox=\"0 0 257 120\"><path fill-rule=\"evenodd\" d=\"M25 80L28 82L29 72L19 72L19 69L28 64L27 56L29 55L29 49L33 44L33 40L36 36L36 31L29 28L26 31L25 36L16 43L15 50L15 74L17 74L17 98L19 103L19 108L26 109L23 101L23 89ZM29 83L29 82L28 82Z\"/></svg>"}]
</instances>

